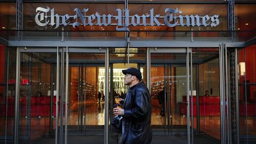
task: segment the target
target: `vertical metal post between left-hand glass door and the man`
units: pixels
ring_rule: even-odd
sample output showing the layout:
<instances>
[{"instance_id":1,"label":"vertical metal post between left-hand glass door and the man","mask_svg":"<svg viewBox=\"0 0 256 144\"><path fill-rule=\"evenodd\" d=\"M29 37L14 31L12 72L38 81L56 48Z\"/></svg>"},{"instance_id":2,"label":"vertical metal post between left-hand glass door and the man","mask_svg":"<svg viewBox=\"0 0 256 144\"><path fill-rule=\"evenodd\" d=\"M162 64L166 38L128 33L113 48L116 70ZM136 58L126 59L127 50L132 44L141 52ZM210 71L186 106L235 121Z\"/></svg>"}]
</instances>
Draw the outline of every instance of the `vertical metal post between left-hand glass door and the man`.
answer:
<instances>
[{"instance_id":1,"label":"vertical metal post between left-hand glass door and the man","mask_svg":"<svg viewBox=\"0 0 256 144\"><path fill-rule=\"evenodd\" d=\"M109 73L109 50L108 48L106 49L105 52L105 140L104 144L108 144L108 73Z\"/></svg>"}]
</instances>

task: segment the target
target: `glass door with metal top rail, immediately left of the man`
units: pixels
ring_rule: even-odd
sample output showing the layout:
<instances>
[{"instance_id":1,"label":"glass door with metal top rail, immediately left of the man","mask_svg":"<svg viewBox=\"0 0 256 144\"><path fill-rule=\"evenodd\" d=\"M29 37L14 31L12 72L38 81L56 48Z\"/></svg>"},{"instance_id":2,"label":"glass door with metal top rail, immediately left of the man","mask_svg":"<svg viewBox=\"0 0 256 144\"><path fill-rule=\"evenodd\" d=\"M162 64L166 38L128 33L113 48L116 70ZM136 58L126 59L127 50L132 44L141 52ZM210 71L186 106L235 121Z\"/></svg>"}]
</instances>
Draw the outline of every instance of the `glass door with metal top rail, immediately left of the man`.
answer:
<instances>
[{"instance_id":1,"label":"glass door with metal top rail, immediately left of the man","mask_svg":"<svg viewBox=\"0 0 256 144\"><path fill-rule=\"evenodd\" d=\"M88 135L104 143L105 50L69 48L68 62L67 143L90 141Z\"/></svg>"}]
</instances>

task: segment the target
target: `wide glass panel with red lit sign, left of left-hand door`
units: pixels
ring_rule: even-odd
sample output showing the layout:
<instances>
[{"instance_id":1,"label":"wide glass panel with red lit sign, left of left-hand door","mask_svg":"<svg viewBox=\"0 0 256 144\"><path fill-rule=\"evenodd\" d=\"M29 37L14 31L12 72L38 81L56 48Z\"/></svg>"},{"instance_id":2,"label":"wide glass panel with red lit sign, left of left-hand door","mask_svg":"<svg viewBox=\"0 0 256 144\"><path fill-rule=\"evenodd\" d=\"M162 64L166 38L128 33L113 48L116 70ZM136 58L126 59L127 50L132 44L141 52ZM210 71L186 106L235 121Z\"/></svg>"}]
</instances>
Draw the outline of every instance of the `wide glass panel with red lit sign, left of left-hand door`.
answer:
<instances>
[{"instance_id":1,"label":"wide glass panel with red lit sign, left of left-hand door","mask_svg":"<svg viewBox=\"0 0 256 144\"><path fill-rule=\"evenodd\" d=\"M19 142L55 142L55 75L56 52L20 53Z\"/></svg>"}]
</instances>

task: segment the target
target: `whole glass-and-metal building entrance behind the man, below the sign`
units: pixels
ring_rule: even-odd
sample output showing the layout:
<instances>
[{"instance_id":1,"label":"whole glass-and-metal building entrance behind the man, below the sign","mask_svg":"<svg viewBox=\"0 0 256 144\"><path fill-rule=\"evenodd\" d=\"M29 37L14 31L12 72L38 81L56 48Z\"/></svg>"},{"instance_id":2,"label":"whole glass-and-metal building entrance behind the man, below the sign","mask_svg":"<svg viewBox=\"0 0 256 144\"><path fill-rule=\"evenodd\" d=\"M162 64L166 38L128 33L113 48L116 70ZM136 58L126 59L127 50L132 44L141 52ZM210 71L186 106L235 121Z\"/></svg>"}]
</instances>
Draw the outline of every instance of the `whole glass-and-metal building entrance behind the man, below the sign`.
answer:
<instances>
[{"instance_id":1,"label":"whole glass-and-metal building entrance behind the man, below the sign","mask_svg":"<svg viewBox=\"0 0 256 144\"><path fill-rule=\"evenodd\" d=\"M153 137L178 135L193 143L194 134L204 133L220 140L216 49L205 55L193 48L137 48L130 63L117 50L109 50L109 60L108 49L20 49L19 142L97 136L97 143L119 143L110 121L114 98L126 97L121 70L129 67L140 69L151 91Z\"/></svg>"}]
</instances>

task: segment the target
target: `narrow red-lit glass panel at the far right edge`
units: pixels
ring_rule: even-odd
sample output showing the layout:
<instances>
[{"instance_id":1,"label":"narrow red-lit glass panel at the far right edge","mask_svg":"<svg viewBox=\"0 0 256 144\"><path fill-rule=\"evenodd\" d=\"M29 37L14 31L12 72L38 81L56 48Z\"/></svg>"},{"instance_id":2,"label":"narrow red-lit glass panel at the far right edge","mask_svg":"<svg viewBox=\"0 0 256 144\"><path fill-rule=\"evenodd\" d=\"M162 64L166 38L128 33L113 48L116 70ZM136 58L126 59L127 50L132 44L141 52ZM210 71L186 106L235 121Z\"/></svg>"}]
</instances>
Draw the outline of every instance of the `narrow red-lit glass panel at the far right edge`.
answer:
<instances>
[{"instance_id":1,"label":"narrow red-lit glass panel at the far right edge","mask_svg":"<svg viewBox=\"0 0 256 144\"><path fill-rule=\"evenodd\" d=\"M256 45L238 50L239 126L241 142L249 143L256 137Z\"/></svg>"}]
</instances>

